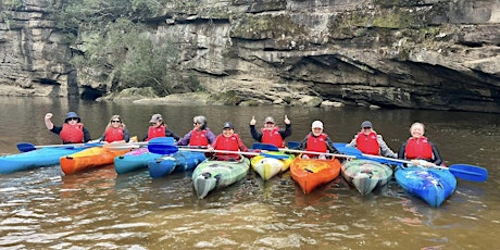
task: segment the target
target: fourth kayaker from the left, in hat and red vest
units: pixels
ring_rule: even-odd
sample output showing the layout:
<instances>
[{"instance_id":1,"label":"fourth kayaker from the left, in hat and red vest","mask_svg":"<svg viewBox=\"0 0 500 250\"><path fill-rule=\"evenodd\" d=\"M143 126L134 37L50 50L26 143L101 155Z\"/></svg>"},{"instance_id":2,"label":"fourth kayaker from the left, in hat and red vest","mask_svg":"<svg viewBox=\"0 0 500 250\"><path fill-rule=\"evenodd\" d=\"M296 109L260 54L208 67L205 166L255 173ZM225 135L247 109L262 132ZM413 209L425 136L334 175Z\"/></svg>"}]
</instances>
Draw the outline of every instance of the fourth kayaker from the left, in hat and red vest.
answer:
<instances>
[{"instance_id":1,"label":"fourth kayaker from the left, in hat and red vest","mask_svg":"<svg viewBox=\"0 0 500 250\"><path fill-rule=\"evenodd\" d=\"M192 118L192 130L177 141L177 146L209 146L215 141L215 134L207 127L207 117L198 115Z\"/></svg>"}]
</instances>

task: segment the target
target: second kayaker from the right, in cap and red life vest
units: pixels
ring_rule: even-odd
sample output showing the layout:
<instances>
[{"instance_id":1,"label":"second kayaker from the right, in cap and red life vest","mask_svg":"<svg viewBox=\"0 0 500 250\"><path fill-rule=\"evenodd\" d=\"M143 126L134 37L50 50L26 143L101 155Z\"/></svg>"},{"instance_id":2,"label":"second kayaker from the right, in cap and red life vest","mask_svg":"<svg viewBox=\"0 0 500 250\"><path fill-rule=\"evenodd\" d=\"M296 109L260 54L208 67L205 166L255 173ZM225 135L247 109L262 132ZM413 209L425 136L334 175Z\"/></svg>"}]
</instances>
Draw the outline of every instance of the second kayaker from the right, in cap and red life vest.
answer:
<instances>
[{"instance_id":1,"label":"second kayaker from the right, in cap and red life vest","mask_svg":"<svg viewBox=\"0 0 500 250\"><path fill-rule=\"evenodd\" d=\"M398 154L387 146L386 141L384 141L382 135L378 135L373 129L372 122L370 121L361 123L361 132L359 132L346 147L358 148L361 152L366 154L398 158Z\"/></svg>"}]
</instances>

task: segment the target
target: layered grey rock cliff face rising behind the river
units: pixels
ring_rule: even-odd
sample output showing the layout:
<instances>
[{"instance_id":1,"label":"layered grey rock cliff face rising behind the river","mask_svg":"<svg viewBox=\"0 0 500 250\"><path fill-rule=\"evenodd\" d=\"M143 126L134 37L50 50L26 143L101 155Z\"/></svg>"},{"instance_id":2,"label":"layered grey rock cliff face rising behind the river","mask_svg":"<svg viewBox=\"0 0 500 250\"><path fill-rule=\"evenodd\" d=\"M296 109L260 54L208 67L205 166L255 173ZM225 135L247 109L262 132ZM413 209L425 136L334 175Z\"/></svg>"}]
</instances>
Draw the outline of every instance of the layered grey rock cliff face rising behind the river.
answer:
<instances>
[{"instance_id":1,"label":"layered grey rock cliff face rising behind the river","mask_svg":"<svg viewBox=\"0 0 500 250\"><path fill-rule=\"evenodd\" d=\"M108 95L111 80L85 75L100 68L70 63L49 2L0 5L0 95ZM183 72L211 92L500 113L500 0L197 2L152 16L149 33L175 38Z\"/></svg>"}]
</instances>

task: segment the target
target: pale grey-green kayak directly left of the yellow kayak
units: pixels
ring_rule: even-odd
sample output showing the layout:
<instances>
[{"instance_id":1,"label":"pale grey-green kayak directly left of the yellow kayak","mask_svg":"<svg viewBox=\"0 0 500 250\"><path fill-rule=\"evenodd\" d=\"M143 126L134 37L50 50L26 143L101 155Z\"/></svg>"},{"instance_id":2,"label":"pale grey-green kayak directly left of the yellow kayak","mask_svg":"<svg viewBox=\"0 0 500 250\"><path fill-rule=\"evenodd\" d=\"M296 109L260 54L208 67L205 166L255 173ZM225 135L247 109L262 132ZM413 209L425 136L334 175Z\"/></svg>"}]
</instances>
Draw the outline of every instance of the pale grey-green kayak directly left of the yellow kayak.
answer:
<instances>
[{"instance_id":1,"label":"pale grey-green kayak directly left of the yellow kayak","mask_svg":"<svg viewBox=\"0 0 500 250\"><path fill-rule=\"evenodd\" d=\"M227 187L247 176L250 170L250 160L241 158L239 161L205 160L192 172L192 184L200 199L210 191Z\"/></svg>"}]
</instances>

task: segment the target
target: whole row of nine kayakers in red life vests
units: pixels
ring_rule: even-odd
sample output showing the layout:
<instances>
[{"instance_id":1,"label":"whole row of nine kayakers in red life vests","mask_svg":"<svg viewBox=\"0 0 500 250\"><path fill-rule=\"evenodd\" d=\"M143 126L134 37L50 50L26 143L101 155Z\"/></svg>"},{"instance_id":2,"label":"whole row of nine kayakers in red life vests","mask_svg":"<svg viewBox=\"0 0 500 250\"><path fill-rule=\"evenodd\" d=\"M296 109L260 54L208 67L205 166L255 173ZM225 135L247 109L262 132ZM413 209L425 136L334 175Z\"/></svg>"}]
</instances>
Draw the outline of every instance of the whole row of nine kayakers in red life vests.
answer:
<instances>
[{"instance_id":1,"label":"whole row of nine kayakers in red life vests","mask_svg":"<svg viewBox=\"0 0 500 250\"><path fill-rule=\"evenodd\" d=\"M68 112L66 114L62 126L54 126L51 118L52 114L47 113L45 116L46 126L52 133L58 134L63 143L82 143L91 140L89 132L84 127L80 117L75 112ZM153 114L150 120L147 136L143 137L143 140L149 141L157 137L173 137L177 146L205 147L209 152L215 152L214 157L217 160L237 160L240 155L236 153L236 151L249 151L239 135L235 133L235 127L230 122L225 122L223 124L223 130L217 136L207 126L207 117L198 115L193 117L192 122L193 128L180 138L168 129L161 114ZM274 117L267 116L264 120L263 126L258 130L255 128L257 121L253 116L249 124L250 134L252 138L259 142L285 148L287 147L286 138L289 137L292 132L291 122L287 115L285 115L284 122L285 128L279 128ZM398 153L395 153L384 141L382 135L378 135L373 129L373 124L370 121L364 121L361 124L361 130L347 147L358 148L365 154L413 160L412 162L417 165L440 165L442 163L440 154L436 146L424 137L424 124L412 124L410 128L411 137L401 146ZM129 132L120 115L113 115L102 136L95 141L112 143L128 142L129 139ZM297 148L305 151L302 155L303 158L326 159L328 153L339 152L328 135L324 133L323 123L321 121L314 121L312 123L311 132ZM235 151L235 153L217 153L217 150Z\"/></svg>"}]
</instances>

